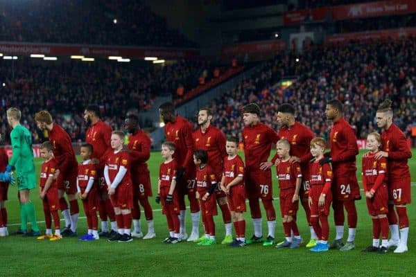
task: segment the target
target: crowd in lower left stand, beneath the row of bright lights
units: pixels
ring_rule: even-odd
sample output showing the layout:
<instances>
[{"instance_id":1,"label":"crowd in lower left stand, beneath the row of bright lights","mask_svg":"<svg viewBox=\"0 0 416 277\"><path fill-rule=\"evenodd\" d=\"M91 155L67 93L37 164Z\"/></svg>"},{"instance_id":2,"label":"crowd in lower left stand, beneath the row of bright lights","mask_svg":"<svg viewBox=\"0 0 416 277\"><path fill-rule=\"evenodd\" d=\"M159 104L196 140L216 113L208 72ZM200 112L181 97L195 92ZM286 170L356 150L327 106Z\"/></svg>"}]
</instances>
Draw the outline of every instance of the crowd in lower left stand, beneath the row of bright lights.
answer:
<instances>
[{"instance_id":1,"label":"crowd in lower left stand, beneath the row of bright lights","mask_svg":"<svg viewBox=\"0 0 416 277\"><path fill-rule=\"evenodd\" d=\"M20 57L0 63L0 133L8 134L6 109L19 107L24 124L42 141L33 116L48 109L71 135L83 139L86 105L101 107L105 120L122 127L127 111L137 113L153 107L157 96L173 95L181 85L189 90L198 85L208 62L179 60L164 66L144 66L135 62L120 64L107 60L85 63L73 60L44 62ZM148 127L151 122L141 122ZM7 136L6 136L7 138Z\"/></svg>"}]
</instances>

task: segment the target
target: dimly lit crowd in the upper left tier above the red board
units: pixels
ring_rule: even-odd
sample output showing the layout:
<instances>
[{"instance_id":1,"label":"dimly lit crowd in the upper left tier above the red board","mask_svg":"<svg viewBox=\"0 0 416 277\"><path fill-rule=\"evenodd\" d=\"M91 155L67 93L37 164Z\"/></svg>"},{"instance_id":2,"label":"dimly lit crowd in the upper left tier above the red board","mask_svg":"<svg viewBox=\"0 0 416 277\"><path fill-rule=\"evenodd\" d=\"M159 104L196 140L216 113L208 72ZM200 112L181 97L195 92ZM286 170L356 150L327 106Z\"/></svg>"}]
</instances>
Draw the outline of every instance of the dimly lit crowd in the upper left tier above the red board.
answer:
<instances>
[{"instance_id":1,"label":"dimly lit crowd in the upper left tier above the red board","mask_svg":"<svg viewBox=\"0 0 416 277\"><path fill-rule=\"evenodd\" d=\"M196 46L137 0L0 1L0 40Z\"/></svg>"}]
</instances>

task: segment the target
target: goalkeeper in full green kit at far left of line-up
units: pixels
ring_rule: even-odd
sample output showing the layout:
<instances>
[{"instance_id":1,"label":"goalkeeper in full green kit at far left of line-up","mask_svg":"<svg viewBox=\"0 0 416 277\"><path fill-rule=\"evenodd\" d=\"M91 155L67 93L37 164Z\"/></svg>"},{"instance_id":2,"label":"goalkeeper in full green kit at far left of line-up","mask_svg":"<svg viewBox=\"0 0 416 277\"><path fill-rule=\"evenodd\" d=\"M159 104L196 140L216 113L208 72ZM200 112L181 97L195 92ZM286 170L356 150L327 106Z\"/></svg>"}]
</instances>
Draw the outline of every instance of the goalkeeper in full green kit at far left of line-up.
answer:
<instances>
[{"instance_id":1,"label":"goalkeeper in full green kit at far left of line-up","mask_svg":"<svg viewBox=\"0 0 416 277\"><path fill-rule=\"evenodd\" d=\"M40 231L36 223L35 207L29 199L30 191L36 186L32 135L26 127L20 125L20 117L19 109L12 107L7 110L8 124L13 128L10 133L13 154L3 175L10 176L10 172L15 170L14 179L17 182L17 190L19 190L21 220L20 229L15 233L37 236L40 235ZM27 222L32 224L31 232L28 232Z\"/></svg>"}]
</instances>

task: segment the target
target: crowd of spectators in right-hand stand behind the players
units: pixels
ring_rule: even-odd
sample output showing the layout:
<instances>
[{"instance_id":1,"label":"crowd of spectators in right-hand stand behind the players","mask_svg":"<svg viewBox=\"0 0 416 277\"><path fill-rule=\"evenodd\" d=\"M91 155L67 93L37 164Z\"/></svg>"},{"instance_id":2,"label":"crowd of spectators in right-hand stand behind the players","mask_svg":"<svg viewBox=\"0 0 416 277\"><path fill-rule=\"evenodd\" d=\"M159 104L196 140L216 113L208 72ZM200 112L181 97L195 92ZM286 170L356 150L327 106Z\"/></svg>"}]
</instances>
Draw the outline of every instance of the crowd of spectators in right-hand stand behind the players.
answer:
<instances>
[{"instance_id":1,"label":"crowd of spectators in right-hand stand behind the players","mask_svg":"<svg viewBox=\"0 0 416 277\"><path fill-rule=\"evenodd\" d=\"M416 125L415 64L414 37L322 46L303 55L282 53L209 107L216 115L214 125L241 139L243 105L257 102L263 111L261 120L278 129L277 108L291 103L297 109L297 120L311 127L315 135L327 137L330 126L324 109L327 100L338 98L345 103L345 118L356 129L357 137L365 139L369 132L378 130L374 118L379 103L390 98L395 123L409 135L410 127ZM276 82L288 75L296 75L297 81L281 89Z\"/></svg>"}]
</instances>

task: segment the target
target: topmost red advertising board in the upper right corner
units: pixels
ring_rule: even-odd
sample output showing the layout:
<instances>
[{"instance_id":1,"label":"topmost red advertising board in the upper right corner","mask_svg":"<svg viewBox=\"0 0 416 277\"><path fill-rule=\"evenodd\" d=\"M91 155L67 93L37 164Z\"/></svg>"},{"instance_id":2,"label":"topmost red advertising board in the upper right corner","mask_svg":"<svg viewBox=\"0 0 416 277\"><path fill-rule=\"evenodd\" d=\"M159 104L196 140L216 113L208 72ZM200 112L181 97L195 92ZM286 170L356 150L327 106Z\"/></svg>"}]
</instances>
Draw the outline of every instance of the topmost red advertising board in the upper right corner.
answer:
<instances>
[{"instance_id":1,"label":"topmost red advertising board in the upper right corner","mask_svg":"<svg viewBox=\"0 0 416 277\"><path fill-rule=\"evenodd\" d=\"M415 0L379 1L334 6L333 20L356 19L361 17L380 17L416 12Z\"/></svg>"}]
</instances>

